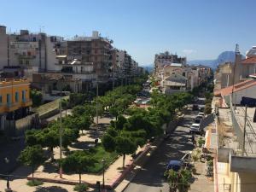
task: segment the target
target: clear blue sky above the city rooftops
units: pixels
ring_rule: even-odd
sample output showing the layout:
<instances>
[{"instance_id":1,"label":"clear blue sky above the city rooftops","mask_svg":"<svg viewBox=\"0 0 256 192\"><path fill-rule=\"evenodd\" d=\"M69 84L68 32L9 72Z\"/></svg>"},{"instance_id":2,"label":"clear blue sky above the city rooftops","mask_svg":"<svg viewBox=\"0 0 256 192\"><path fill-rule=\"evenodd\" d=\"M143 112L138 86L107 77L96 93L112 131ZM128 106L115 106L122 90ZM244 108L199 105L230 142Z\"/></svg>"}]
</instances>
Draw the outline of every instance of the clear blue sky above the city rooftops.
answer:
<instances>
[{"instance_id":1,"label":"clear blue sky above the city rooftops","mask_svg":"<svg viewBox=\"0 0 256 192\"><path fill-rule=\"evenodd\" d=\"M214 59L240 45L256 45L254 0L2 0L0 25L39 28L72 38L97 30L140 65L170 50L188 60Z\"/></svg>"}]
</instances>

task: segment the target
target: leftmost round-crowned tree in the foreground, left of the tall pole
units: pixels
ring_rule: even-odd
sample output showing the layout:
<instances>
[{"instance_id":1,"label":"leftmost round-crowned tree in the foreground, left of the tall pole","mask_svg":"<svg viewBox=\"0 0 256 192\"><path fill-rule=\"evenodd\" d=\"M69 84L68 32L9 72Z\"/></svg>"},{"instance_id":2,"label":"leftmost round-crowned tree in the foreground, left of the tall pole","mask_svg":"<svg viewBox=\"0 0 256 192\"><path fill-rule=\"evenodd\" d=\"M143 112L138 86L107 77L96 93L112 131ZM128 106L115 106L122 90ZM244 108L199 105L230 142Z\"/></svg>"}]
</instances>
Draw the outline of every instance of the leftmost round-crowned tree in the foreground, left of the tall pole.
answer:
<instances>
[{"instance_id":1,"label":"leftmost round-crowned tree in the foreground, left of the tall pole","mask_svg":"<svg viewBox=\"0 0 256 192\"><path fill-rule=\"evenodd\" d=\"M32 167L32 179L34 179L35 168L44 163L44 150L40 145L27 146L20 152L18 160L23 165Z\"/></svg>"}]
</instances>

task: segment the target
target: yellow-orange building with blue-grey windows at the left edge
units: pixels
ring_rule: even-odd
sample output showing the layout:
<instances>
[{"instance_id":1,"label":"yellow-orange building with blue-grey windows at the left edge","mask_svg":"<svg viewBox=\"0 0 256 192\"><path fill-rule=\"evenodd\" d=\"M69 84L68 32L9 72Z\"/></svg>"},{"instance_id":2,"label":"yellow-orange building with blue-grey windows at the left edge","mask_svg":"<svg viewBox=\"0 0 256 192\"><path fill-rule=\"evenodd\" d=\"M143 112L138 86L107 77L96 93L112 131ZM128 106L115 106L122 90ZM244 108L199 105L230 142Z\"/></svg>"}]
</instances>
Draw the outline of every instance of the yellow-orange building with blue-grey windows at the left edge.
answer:
<instances>
[{"instance_id":1,"label":"yellow-orange building with blue-grey windows at the left edge","mask_svg":"<svg viewBox=\"0 0 256 192\"><path fill-rule=\"evenodd\" d=\"M32 105L30 83L26 79L0 81L0 129L6 119L20 119Z\"/></svg>"}]
</instances>

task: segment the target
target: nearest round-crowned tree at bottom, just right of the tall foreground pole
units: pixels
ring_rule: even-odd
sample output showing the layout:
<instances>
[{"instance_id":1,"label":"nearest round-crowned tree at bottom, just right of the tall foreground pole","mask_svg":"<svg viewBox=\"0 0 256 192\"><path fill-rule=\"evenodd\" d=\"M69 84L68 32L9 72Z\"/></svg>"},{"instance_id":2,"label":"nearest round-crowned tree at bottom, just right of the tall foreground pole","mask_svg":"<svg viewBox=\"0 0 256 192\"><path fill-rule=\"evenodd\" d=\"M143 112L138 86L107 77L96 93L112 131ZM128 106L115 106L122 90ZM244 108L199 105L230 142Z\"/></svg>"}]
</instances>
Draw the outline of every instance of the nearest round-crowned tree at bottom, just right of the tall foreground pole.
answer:
<instances>
[{"instance_id":1,"label":"nearest round-crowned tree at bottom, just right of the tall foreground pole","mask_svg":"<svg viewBox=\"0 0 256 192\"><path fill-rule=\"evenodd\" d=\"M84 151L74 151L73 154L61 161L61 165L66 172L79 173L79 183L81 183L81 174L88 172L90 166L94 166L96 160L86 154Z\"/></svg>"}]
</instances>

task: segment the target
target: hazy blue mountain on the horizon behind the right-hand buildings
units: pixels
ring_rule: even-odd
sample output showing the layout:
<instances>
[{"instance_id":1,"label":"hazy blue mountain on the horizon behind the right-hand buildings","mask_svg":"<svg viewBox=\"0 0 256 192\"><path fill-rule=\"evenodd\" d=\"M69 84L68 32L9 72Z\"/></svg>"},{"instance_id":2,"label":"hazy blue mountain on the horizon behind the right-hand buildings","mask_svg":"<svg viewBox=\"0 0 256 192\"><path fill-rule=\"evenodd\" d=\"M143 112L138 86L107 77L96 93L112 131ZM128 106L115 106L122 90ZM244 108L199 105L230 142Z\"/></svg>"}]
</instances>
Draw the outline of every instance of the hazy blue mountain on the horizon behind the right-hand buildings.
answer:
<instances>
[{"instance_id":1,"label":"hazy blue mountain on the horizon behind the right-hand buildings","mask_svg":"<svg viewBox=\"0 0 256 192\"><path fill-rule=\"evenodd\" d=\"M244 58L244 56L242 55ZM218 55L218 58L216 60L194 60L194 61L188 61L189 65L205 65L212 68L217 68L218 64L224 63L224 62L234 62L236 58L236 52L235 51L224 51L220 55Z\"/></svg>"}]
</instances>

